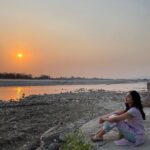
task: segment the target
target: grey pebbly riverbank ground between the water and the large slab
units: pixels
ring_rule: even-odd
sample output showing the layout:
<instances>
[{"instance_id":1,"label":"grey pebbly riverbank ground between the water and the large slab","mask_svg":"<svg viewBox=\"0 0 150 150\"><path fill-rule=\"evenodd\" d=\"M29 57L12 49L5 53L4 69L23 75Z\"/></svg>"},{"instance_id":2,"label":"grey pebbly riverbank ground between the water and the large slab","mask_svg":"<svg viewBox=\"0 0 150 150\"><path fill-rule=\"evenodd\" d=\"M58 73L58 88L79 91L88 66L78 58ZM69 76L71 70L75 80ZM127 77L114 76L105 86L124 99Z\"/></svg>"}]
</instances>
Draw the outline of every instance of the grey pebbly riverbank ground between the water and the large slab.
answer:
<instances>
[{"instance_id":1,"label":"grey pebbly riverbank ground between the water and the large slab","mask_svg":"<svg viewBox=\"0 0 150 150\"><path fill-rule=\"evenodd\" d=\"M124 92L104 90L32 95L20 102L0 102L0 149L35 150L51 127L72 123L79 128L91 119L123 107ZM143 98L148 93L141 92Z\"/></svg>"}]
</instances>

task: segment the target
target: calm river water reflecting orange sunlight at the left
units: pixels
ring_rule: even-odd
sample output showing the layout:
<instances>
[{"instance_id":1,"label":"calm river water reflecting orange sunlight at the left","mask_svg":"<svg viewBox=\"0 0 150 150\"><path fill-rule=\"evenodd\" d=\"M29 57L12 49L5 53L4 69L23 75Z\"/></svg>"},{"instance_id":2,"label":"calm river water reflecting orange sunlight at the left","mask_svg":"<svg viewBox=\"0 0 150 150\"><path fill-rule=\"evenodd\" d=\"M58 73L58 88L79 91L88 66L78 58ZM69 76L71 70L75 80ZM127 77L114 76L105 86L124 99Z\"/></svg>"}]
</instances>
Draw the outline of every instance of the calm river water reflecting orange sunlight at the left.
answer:
<instances>
[{"instance_id":1,"label":"calm river water reflecting orange sunlight at the left","mask_svg":"<svg viewBox=\"0 0 150 150\"><path fill-rule=\"evenodd\" d=\"M138 90L146 91L147 83L124 83L124 84L98 84L98 85L55 85L55 86L18 86L18 87L0 87L0 100L19 99L23 93L25 96L32 94L56 94L64 92L77 92L83 88L85 91L93 90L108 90L108 91L129 91Z\"/></svg>"}]
</instances>

